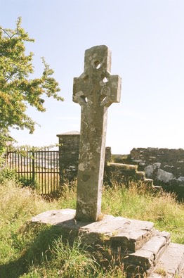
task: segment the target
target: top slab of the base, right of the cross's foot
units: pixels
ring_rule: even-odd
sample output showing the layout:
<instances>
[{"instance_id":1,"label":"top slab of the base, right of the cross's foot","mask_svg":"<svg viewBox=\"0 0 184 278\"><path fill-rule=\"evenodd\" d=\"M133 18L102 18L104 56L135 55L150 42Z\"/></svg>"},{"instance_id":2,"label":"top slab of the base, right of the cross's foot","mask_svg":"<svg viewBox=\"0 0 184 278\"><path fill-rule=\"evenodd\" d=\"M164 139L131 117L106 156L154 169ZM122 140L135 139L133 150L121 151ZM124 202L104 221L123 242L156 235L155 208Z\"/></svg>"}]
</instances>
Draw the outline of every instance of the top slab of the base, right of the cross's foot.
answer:
<instances>
[{"instance_id":1,"label":"top slab of the base, right of the cross's foot","mask_svg":"<svg viewBox=\"0 0 184 278\"><path fill-rule=\"evenodd\" d=\"M155 234L152 222L131 220L124 217L104 215L103 220L80 225L79 235L86 244L104 244L109 241L114 252L131 253L138 250ZM100 239L100 241L99 241ZM103 240L101 240L103 239Z\"/></svg>"}]
</instances>

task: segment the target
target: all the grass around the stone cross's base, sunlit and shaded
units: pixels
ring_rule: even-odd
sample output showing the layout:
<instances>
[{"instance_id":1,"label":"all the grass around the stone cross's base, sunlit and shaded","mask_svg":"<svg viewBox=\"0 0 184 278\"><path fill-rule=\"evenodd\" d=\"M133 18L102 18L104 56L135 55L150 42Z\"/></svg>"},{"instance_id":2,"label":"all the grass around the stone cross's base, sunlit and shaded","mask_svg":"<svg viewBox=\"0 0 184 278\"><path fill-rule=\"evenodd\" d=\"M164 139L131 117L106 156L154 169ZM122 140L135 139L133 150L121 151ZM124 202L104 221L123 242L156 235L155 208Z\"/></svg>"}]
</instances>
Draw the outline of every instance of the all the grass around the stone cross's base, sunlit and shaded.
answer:
<instances>
[{"instance_id":1,"label":"all the grass around the stone cross's base, sunlit and shaded","mask_svg":"<svg viewBox=\"0 0 184 278\"><path fill-rule=\"evenodd\" d=\"M60 230L51 226L28 225L32 216L45 210L76 207L76 184L65 185L55 199L41 198L13 181L0 184L0 277L2 278L123 278L110 250L107 258L89 253L80 240L69 245ZM105 214L148 220L159 230L171 232L173 242L184 244L184 205L169 194L152 195L132 184L105 187L102 210ZM101 256L101 257L100 257Z\"/></svg>"}]
</instances>

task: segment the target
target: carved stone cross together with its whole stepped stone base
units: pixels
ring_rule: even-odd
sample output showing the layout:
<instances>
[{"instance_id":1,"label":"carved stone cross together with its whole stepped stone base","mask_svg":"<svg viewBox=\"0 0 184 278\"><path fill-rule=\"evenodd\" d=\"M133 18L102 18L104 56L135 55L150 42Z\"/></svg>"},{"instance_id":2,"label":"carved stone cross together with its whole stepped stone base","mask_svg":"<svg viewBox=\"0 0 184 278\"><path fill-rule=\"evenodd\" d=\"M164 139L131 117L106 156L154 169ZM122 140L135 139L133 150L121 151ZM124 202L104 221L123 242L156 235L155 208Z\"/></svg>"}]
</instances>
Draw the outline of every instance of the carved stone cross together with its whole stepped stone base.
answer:
<instances>
[{"instance_id":1,"label":"carved stone cross together with its whole stepped stone base","mask_svg":"<svg viewBox=\"0 0 184 278\"><path fill-rule=\"evenodd\" d=\"M73 100L81 106L81 137L77 175L77 210L50 210L32 217L34 224L60 227L67 239L81 237L93 248L108 246L119 255L127 277L184 277L184 245L172 244L168 232L152 222L101 213L107 108L119 102L121 79L110 75L107 46L86 50L84 73L74 78Z\"/></svg>"}]
</instances>

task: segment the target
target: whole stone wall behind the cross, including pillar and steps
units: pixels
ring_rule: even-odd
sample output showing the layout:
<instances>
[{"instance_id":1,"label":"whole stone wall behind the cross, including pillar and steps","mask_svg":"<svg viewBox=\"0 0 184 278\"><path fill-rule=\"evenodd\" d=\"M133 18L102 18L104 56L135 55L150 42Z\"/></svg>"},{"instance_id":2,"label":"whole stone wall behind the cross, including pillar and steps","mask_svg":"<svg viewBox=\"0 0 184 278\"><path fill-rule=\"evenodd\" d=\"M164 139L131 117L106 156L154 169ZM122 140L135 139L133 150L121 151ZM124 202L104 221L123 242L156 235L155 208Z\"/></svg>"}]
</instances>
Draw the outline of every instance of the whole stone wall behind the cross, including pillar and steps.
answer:
<instances>
[{"instance_id":1,"label":"whole stone wall behind the cross, including pillar and steps","mask_svg":"<svg viewBox=\"0 0 184 278\"><path fill-rule=\"evenodd\" d=\"M60 184L77 177L79 162L79 132L58 134L60 156ZM166 191L174 191L184 198L184 150L138 148L129 155L113 155L111 148L105 148L104 181L111 184L112 179L129 184L140 180L150 187L162 186Z\"/></svg>"}]
</instances>

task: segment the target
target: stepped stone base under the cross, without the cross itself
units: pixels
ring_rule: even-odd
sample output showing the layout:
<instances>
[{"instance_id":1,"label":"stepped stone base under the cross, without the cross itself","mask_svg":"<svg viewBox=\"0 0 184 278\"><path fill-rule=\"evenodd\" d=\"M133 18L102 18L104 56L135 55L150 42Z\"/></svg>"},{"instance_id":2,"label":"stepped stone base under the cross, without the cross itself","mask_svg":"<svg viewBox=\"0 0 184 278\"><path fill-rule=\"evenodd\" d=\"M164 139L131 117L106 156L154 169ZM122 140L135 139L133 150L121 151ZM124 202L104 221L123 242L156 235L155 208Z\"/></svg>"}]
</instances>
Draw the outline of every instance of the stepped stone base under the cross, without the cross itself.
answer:
<instances>
[{"instance_id":1,"label":"stepped stone base under the cross, without the cross itself","mask_svg":"<svg viewBox=\"0 0 184 278\"><path fill-rule=\"evenodd\" d=\"M171 243L168 232L152 222L104 215L98 222L79 222L75 210L49 210L32 218L32 224L60 227L64 237L80 236L87 246L107 246L121 258L127 278L184 278L184 245Z\"/></svg>"}]
</instances>

